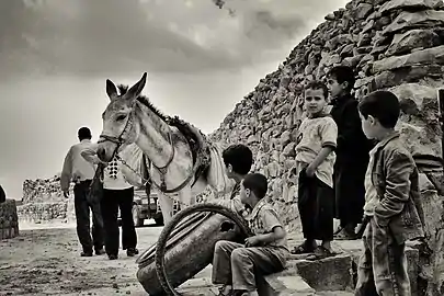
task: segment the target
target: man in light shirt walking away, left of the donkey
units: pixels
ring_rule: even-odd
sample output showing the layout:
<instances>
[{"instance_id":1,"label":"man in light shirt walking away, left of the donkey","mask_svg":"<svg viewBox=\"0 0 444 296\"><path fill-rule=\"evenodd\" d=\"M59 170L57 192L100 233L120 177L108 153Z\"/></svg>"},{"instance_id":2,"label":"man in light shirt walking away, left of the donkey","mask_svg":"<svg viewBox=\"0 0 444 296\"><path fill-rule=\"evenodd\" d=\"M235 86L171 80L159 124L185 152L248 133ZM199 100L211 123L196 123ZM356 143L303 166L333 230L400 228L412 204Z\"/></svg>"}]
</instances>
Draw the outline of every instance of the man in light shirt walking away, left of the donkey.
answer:
<instances>
[{"instance_id":1,"label":"man in light shirt walking away, left of the donkey","mask_svg":"<svg viewBox=\"0 0 444 296\"><path fill-rule=\"evenodd\" d=\"M98 163L88 162L80 153L91 147L91 130L81 127L78 132L79 144L71 146L65 158L64 169L60 177L60 186L65 197L69 196L69 185L75 182L75 208L77 220L77 236L83 248L81 257L92 257L93 248L95 254L103 254L103 219L98 198L89 198L91 181L94 178ZM90 209L92 212L92 239L90 231Z\"/></svg>"}]
</instances>

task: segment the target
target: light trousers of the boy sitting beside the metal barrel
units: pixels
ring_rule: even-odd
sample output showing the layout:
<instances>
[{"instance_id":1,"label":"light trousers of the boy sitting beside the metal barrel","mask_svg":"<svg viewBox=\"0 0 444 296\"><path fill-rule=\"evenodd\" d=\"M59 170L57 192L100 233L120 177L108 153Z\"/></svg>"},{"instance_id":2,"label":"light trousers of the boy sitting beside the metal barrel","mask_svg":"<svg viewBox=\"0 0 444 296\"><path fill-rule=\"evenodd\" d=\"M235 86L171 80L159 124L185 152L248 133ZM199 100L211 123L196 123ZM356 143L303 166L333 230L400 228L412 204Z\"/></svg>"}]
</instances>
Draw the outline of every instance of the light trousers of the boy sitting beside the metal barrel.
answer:
<instances>
[{"instance_id":1,"label":"light trousers of the boy sitting beside the metal barrel","mask_svg":"<svg viewBox=\"0 0 444 296\"><path fill-rule=\"evenodd\" d=\"M213 258L213 283L232 285L234 289L257 289L254 273L266 275L284 270L284 250L250 247L232 241L216 242Z\"/></svg>"}]
</instances>

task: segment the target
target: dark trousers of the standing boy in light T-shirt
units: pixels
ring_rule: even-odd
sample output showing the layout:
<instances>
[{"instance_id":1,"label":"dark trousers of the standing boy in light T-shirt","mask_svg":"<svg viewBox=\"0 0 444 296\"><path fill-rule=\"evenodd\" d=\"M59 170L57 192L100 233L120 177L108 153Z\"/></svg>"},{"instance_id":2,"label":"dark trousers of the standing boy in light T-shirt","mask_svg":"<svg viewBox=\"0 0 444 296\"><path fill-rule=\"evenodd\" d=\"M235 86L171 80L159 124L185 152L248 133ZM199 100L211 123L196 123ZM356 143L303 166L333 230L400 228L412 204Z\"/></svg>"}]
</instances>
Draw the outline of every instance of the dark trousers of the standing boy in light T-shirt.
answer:
<instances>
[{"instance_id":1,"label":"dark trousers of the standing boy in light T-shirt","mask_svg":"<svg viewBox=\"0 0 444 296\"><path fill-rule=\"evenodd\" d=\"M316 175L307 177L305 169L299 173L297 207L304 238L333 240L333 189Z\"/></svg>"}]
</instances>

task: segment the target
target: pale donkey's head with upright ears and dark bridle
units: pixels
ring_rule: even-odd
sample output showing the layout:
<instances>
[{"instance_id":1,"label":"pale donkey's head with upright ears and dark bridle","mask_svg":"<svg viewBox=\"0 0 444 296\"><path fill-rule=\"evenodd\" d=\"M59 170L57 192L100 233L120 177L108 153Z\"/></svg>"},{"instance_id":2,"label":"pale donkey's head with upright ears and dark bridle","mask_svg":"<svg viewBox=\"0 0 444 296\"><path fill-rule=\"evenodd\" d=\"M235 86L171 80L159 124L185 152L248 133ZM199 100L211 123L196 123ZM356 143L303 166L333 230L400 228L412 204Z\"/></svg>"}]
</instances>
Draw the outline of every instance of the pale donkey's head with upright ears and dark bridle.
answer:
<instances>
[{"instance_id":1,"label":"pale donkey's head with upright ears and dark bridle","mask_svg":"<svg viewBox=\"0 0 444 296\"><path fill-rule=\"evenodd\" d=\"M98 156L102 161L111 161L126 145L136 141L140 126L136 121L135 107L146 81L145 72L136 84L122 94L110 79L106 80L106 93L111 102L102 114L103 130L98 149Z\"/></svg>"}]
</instances>

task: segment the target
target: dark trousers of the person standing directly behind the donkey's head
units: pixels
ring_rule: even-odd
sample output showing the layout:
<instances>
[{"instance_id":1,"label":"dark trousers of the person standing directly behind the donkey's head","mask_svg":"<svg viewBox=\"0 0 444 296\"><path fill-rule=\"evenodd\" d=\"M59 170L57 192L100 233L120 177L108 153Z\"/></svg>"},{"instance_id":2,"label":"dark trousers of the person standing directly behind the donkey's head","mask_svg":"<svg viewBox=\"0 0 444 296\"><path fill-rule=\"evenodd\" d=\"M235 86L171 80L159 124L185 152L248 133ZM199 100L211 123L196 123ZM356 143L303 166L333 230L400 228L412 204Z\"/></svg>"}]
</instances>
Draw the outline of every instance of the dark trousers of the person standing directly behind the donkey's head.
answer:
<instances>
[{"instance_id":1,"label":"dark trousers of the person standing directly behind the donkey's head","mask_svg":"<svg viewBox=\"0 0 444 296\"><path fill-rule=\"evenodd\" d=\"M121 209L122 218L122 249L136 248L137 235L133 220L134 187L125 190L103 190L101 208L105 228L105 251L110 254L118 253L117 214Z\"/></svg>"}]
</instances>

